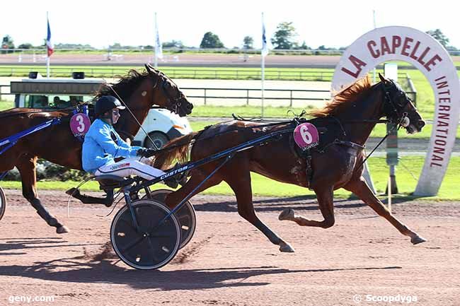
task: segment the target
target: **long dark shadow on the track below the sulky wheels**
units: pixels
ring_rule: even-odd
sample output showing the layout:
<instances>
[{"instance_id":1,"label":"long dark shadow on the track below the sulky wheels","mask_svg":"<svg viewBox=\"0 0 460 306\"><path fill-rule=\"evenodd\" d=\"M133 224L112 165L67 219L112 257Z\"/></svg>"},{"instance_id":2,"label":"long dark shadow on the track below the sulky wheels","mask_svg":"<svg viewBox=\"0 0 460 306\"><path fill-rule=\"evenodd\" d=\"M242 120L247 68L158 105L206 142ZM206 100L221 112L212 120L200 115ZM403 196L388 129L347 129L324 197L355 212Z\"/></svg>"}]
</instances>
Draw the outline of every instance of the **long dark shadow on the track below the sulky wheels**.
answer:
<instances>
[{"instance_id":1,"label":"long dark shadow on the track below the sulky wheels","mask_svg":"<svg viewBox=\"0 0 460 306\"><path fill-rule=\"evenodd\" d=\"M70 283L122 284L133 289L200 290L210 288L266 286L270 283L249 281L254 276L290 273L333 273L334 271L360 271L402 269L401 266L356 267L338 269L282 269L277 266L241 266L219 269L134 270L115 265L117 261L84 261L84 257L69 257L51 261L37 261L33 266L3 266L1 276L21 276L44 281Z\"/></svg>"}]
</instances>

